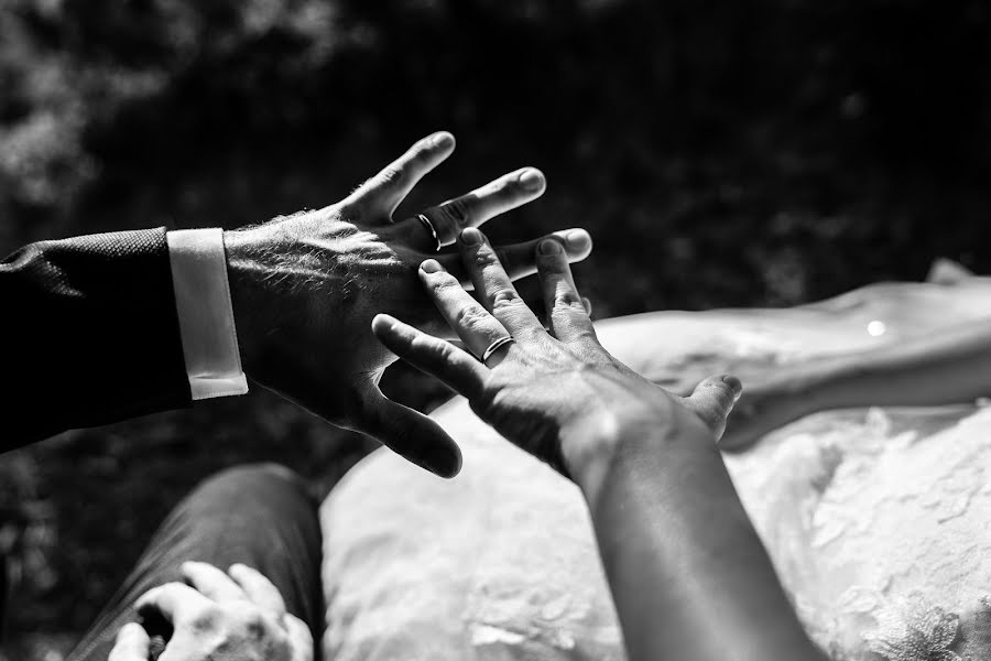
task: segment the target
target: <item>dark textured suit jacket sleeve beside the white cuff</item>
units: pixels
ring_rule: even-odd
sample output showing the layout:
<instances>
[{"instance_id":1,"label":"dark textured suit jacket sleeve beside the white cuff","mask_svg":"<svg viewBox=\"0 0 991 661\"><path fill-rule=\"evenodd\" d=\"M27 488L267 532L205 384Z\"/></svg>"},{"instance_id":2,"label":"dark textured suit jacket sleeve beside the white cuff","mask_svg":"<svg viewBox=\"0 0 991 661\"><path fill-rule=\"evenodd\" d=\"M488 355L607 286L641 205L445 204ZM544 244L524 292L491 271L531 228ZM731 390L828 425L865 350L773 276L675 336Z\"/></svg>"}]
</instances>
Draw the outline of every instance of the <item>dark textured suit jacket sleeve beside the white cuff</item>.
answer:
<instances>
[{"instance_id":1,"label":"dark textured suit jacket sleeve beside the white cuff","mask_svg":"<svg viewBox=\"0 0 991 661\"><path fill-rule=\"evenodd\" d=\"M188 407L164 228L41 241L0 262L0 452Z\"/></svg>"}]
</instances>

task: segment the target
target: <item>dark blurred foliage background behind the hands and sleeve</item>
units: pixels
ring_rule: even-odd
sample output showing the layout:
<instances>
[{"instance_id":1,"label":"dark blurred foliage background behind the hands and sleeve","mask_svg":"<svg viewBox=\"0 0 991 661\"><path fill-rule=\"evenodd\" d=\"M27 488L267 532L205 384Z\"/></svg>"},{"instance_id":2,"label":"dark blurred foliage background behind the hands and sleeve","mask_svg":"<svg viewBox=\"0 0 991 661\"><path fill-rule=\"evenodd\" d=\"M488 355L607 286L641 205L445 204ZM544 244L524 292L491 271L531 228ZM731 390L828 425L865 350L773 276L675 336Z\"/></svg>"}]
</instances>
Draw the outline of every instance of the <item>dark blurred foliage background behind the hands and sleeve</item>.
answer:
<instances>
[{"instance_id":1,"label":"dark blurred foliage background behind the hands and sleeve","mask_svg":"<svg viewBox=\"0 0 991 661\"><path fill-rule=\"evenodd\" d=\"M587 227L597 316L991 272L981 0L0 0L3 253L323 206L442 128L458 151L409 208L540 166L489 234ZM443 398L422 386L389 389ZM0 457L4 649L57 659L211 472L326 492L370 447L253 392Z\"/></svg>"}]
</instances>

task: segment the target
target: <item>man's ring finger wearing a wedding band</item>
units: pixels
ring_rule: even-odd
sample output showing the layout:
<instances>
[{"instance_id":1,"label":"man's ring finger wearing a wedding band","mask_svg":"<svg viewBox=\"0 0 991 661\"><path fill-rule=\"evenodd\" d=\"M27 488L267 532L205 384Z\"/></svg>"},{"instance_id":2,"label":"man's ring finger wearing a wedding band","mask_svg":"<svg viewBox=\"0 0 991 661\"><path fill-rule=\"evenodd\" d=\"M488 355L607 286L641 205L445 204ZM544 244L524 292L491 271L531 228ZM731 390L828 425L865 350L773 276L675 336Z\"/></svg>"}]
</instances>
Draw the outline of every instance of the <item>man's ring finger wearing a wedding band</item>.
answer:
<instances>
[{"instance_id":1,"label":"man's ring finger wearing a wedding band","mask_svg":"<svg viewBox=\"0 0 991 661\"><path fill-rule=\"evenodd\" d=\"M535 167L523 167L489 182L470 193L448 199L423 212L437 232L436 239L422 219L414 216L402 225L417 248L433 252L440 246L454 243L466 227L482 223L536 199L544 193L544 174Z\"/></svg>"}]
</instances>

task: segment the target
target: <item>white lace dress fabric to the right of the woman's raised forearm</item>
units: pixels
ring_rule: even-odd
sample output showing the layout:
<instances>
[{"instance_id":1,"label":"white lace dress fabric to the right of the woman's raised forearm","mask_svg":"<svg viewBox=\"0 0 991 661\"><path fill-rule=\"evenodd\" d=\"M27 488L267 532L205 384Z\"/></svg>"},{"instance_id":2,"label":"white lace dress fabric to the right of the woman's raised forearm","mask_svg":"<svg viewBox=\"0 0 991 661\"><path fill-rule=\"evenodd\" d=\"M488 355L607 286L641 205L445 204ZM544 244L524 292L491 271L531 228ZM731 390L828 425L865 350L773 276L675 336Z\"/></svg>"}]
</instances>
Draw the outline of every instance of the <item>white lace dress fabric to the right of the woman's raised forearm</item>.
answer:
<instances>
[{"instance_id":1,"label":"white lace dress fabric to the right of the woman's raised forearm","mask_svg":"<svg viewBox=\"0 0 991 661\"><path fill-rule=\"evenodd\" d=\"M832 659L991 659L991 409L820 414L727 465Z\"/></svg>"}]
</instances>

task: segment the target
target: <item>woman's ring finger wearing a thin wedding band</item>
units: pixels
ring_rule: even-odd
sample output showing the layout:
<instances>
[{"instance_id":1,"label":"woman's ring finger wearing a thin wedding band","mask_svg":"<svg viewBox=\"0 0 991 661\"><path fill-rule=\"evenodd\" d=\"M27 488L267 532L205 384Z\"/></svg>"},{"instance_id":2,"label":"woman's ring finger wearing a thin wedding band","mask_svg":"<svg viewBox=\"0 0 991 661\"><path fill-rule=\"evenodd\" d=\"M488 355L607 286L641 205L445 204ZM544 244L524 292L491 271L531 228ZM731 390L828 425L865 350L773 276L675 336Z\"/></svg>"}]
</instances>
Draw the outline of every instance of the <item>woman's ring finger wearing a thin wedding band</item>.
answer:
<instances>
[{"instance_id":1,"label":"woman's ring finger wearing a thin wedding band","mask_svg":"<svg viewBox=\"0 0 991 661\"><path fill-rule=\"evenodd\" d=\"M437 260L428 259L420 268L420 278L444 321L454 328L469 351L481 358L496 342L510 337L510 333L489 314L458 280L444 270ZM504 357L507 350L500 350ZM490 362L490 367L494 367Z\"/></svg>"}]
</instances>

